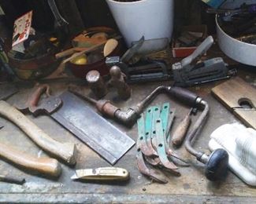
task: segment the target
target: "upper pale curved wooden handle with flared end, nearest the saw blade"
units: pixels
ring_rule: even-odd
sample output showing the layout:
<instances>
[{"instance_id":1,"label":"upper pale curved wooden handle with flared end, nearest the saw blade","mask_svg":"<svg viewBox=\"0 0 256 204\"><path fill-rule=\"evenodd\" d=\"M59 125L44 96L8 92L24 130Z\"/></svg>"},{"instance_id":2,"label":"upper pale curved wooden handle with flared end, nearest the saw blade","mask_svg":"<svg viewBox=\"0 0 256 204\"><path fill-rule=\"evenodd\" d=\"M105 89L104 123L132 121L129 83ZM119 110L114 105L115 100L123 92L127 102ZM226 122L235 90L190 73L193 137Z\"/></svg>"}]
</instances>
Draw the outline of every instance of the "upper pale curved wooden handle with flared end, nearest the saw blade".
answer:
<instances>
[{"instance_id":1,"label":"upper pale curved wooden handle with flared end, nearest the saw blade","mask_svg":"<svg viewBox=\"0 0 256 204\"><path fill-rule=\"evenodd\" d=\"M70 165L76 163L76 144L61 144L52 139L43 131L43 129L40 129L15 107L12 107L3 100L0 101L0 115L17 125L35 142L35 144L39 145L40 148L43 148L44 151L48 151L51 154L58 156L58 158L63 159Z\"/></svg>"}]
</instances>

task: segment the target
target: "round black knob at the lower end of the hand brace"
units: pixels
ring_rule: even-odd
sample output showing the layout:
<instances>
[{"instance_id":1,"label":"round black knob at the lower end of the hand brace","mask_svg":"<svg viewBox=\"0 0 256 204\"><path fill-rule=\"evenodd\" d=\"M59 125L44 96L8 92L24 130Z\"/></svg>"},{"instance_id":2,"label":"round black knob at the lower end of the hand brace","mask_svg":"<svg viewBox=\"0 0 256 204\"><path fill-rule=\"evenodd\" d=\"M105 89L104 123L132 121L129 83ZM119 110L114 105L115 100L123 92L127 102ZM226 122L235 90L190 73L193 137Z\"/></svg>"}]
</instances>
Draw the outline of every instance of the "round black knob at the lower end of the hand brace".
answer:
<instances>
[{"instance_id":1,"label":"round black knob at the lower end of the hand brace","mask_svg":"<svg viewBox=\"0 0 256 204\"><path fill-rule=\"evenodd\" d=\"M209 180L222 180L228 173L228 152L217 149L212 152L206 162L206 178Z\"/></svg>"}]
</instances>

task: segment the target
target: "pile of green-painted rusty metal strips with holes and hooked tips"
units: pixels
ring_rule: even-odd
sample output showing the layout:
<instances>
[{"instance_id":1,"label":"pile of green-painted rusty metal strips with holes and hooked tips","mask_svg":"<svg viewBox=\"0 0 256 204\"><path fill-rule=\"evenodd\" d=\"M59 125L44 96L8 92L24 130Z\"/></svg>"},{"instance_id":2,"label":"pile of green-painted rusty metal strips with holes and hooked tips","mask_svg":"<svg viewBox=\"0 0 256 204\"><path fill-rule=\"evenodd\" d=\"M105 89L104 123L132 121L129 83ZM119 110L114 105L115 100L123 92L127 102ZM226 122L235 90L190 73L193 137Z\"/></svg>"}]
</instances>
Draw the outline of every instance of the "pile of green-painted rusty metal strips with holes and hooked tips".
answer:
<instances>
[{"instance_id":1,"label":"pile of green-painted rusty metal strips with holes and hooked tips","mask_svg":"<svg viewBox=\"0 0 256 204\"><path fill-rule=\"evenodd\" d=\"M170 117L169 113L171 113ZM173 115L174 112L170 112L169 103L165 103L162 108L159 106L147 108L146 118L144 114L141 114L137 121L138 139L136 158L138 169L141 173L160 183L167 183L166 178L162 175L159 176L159 171L147 166L146 162L152 166L163 166L165 169L169 169L173 175L180 176L177 166L169 161L168 158L173 154L167 142L168 128L173 122Z\"/></svg>"}]
</instances>

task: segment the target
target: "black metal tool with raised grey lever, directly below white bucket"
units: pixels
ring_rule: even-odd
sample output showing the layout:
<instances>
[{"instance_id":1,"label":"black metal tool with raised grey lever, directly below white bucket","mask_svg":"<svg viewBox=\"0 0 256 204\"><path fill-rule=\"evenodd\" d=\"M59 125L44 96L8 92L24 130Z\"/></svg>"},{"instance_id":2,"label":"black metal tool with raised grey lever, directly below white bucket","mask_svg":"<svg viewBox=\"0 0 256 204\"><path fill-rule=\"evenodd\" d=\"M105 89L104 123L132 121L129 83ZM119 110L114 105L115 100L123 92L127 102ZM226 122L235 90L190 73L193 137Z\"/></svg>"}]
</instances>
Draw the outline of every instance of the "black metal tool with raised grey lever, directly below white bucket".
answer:
<instances>
[{"instance_id":1,"label":"black metal tool with raised grey lever, directly below white bucket","mask_svg":"<svg viewBox=\"0 0 256 204\"><path fill-rule=\"evenodd\" d=\"M153 46L156 44L158 46ZM123 56L107 57L106 65L120 67L130 83L168 80L168 66L165 61L152 60L147 56L150 53L165 50L168 45L168 38L144 40L142 37L138 42L133 42L133 46Z\"/></svg>"}]
</instances>

